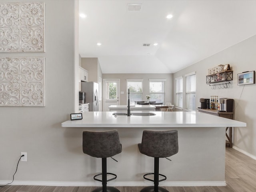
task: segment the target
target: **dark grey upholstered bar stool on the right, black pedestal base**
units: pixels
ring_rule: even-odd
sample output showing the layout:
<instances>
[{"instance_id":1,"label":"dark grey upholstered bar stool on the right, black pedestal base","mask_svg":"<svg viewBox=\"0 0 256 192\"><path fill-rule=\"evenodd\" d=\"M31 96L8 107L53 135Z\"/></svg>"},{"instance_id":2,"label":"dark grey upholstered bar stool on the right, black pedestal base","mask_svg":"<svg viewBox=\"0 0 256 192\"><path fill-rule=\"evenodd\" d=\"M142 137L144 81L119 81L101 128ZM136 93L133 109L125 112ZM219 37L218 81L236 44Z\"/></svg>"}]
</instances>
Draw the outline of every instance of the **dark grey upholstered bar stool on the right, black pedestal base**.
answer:
<instances>
[{"instance_id":1,"label":"dark grey upholstered bar stool on the right, black pedestal base","mask_svg":"<svg viewBox=\"0 0 256 192\"><path fill-rule=\"evenodd\" d=\"M159 174L159 158L170 157L178 153L178 131L150 131L144 130L142 142L138 144L140 153L154 157L154 173L144 174L144 179L153 181L154 186L143 188L140 192L168 192L168 190L158 187L159 182L166 180L166 176ZM170 159L168 159L170 160ZM154 180L146 178L147 175L154 174ZM159 180L159 175L164 177Z\"/></svg>"}]
</instances>

